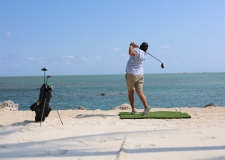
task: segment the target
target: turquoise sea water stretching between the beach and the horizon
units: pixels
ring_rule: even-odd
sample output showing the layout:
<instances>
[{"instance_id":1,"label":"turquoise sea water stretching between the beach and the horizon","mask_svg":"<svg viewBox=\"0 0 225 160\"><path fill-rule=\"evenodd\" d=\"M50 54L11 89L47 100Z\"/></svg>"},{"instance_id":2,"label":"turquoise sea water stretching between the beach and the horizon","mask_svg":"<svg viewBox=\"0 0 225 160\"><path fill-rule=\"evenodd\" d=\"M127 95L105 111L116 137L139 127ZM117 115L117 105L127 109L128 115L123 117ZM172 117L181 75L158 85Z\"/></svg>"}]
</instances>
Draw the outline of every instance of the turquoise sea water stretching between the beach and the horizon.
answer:
<instances>
[{"instance_id":1,"label":"turquoise sea water stretching between the beach and the horizon","mask_svg":"<svg viewBox=\"0 0 225 160\"><path fill-rule=\"evenodd\" d=\"M43 76L0 77L0 102L12 100L19 110L29 110L43 81ZM59 109L110 110L128 103L124 75L52 76L48 82ZM146 74L144 93L156 108L225 106L225 73ZM55 109L52 100L50 105ZM143 108L136 94L135 107Z\"/></svg>"}]
</instances>

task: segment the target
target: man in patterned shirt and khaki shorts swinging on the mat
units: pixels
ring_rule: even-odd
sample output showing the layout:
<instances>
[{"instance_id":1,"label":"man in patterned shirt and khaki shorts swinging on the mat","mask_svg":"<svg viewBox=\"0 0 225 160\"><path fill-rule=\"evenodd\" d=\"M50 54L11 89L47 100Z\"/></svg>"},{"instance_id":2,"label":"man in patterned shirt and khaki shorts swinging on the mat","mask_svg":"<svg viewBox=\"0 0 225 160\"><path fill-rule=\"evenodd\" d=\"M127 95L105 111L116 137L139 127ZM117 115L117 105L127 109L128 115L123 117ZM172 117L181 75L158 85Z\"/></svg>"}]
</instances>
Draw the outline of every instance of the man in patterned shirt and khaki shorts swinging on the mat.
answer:
<instances>
[{"instance_id":1,"label":"man in patterned shirt and khaki shorts swinging on the mat","mask_svg":"<svg viewBox=\"0 0 225 160\"><path fill-rule=\"evenodd\" d=\"M135 42L131 42L129 46L130 58L126 66L126 84L128 90L128 99L132 108L131 114L138 114L134 109L134 89L144 105L142 116L147 116L151 106L148 106L146 97L142 91L144 84L144 71L142 63L146 58L148 44L143 42L140 47Z\"/></svg>"}]
</instances>

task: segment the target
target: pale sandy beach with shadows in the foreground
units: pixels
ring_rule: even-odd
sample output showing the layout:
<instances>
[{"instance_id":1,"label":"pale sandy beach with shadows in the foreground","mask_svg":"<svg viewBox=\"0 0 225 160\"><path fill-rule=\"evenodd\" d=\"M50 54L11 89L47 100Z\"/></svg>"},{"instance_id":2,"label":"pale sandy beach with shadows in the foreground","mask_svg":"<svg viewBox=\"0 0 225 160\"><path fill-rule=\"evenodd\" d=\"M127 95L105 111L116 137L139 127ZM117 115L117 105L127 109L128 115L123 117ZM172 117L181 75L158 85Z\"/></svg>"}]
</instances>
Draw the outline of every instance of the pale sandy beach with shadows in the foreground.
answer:
<instances>
[{"instance_id":1,"label":"pale sandy beach with shadows in the foreground","mask_svg":"<svg viewBox=\"0 0 225 160\"><path fill-rule=\"evenodd\" d=\"M153 108L151 111L174 111ZM225 107L179 108L191 119L120 119L124 110L0 110L0 159L225 159ZM129 110L127 110L128 112ZM138 110L142 111L142 110Z\"/></svg>"}]
</instances>

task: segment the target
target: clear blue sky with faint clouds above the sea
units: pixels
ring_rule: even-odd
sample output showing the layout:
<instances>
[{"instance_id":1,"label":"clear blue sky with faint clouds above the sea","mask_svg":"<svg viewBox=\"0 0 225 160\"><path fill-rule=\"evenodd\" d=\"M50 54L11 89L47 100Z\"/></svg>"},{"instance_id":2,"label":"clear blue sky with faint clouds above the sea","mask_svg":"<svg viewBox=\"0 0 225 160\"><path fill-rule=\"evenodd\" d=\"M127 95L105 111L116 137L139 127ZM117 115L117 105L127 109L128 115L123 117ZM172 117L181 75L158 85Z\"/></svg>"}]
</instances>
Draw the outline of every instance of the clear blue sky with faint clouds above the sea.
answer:
<instances>
[{"instance_id":1,"label":"clear blue sky with faint clouds above the sea","mask_svg":"<svg viewBox=\"0 0 225 160\"><path fill-rule=\"evenodd\" d=\"M224 0L0 0L0 76L225 72Z\"/></svg>"}]
</instances>

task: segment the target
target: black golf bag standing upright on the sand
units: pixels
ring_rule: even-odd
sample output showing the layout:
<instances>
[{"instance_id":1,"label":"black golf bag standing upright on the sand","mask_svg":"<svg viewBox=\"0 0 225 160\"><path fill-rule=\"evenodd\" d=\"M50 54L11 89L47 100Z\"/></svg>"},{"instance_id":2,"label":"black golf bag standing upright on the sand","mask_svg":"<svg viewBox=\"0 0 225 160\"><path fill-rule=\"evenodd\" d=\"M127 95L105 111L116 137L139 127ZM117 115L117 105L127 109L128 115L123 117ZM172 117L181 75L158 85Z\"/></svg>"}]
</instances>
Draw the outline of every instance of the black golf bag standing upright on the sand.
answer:
<instances>
[{"instance_id":1,"label":"black golf bag standing upright on the sand","mask_svg":"<svg viewBox=\"0 0 225 160\"><path fill-rule=\"evenodd\" d=\"M51 99L51 92L52 87L47 84L43 84L42 87L40 88L39 100L30 106L30 109L32 111L35 111L36 113L35 115L36 122L44 121L45 117L48 117L51 111L51 107L49 105Z\"/></svg>"}]
</instances>

